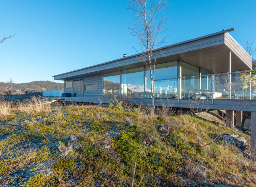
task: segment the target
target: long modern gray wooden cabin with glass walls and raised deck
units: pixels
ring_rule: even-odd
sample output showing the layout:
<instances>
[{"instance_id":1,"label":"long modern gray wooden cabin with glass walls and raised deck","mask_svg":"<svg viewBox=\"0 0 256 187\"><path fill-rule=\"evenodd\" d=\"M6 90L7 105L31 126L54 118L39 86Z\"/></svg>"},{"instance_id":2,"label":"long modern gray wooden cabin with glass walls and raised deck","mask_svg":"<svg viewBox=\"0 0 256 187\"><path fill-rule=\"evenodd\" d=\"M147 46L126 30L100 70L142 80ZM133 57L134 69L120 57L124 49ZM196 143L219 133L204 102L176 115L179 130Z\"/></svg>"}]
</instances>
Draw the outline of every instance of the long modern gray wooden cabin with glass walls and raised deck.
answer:
<instances>
[{"instance_id":1,"label":"long modern gray wooden cabin with glass walls and raised deck","mask_svg":"<svg viewBox=\"0 0 256 187\"><path fill-rule=\"evenodd\" d=\"M200 101L200 108L227 110L233 118L231 127L234 127L234 111L250 111L255 122L254 88L248 85L244 89L240 80L242 73L252 73L252 57L234 40L230 31L234 28L155 51L155 105L190 108L194 98ZM139 55L125 55L121 59L54 75L55 80L65 83L61 98L86 103L132 98L134 104L150 106L150 71ZM238 121L236 125L241 123L241 120L235 121ZM256 125L253 123L251 132L252 147L255 147Z\"/></svg>"}]
</instances>

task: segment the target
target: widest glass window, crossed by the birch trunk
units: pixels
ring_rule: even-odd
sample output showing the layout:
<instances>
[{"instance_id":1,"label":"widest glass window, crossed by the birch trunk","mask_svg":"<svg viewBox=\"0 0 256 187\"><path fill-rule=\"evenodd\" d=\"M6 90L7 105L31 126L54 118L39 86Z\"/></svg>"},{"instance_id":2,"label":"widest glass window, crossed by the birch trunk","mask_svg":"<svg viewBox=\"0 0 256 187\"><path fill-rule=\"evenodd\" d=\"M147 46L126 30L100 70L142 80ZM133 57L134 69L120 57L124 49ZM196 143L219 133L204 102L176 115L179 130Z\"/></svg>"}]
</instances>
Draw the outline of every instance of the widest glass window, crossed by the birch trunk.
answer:
<instances>
[{"instance_id":1,"label":"widest glass window, crossed by the birch trunk","mask_svg":"<svg viewBox=\"0 0 256 187\"><path fill-rule=\"evenodd\" d=\"M150 70L146 67L146 98L151 97L151 79ZM153 71L152 71L153 73ZM171 79L177 77L177 61L167 62L155 65L154 71L154 96L155 98L172 98L177 95L177 79ZM159 80L169 79L169 80Z\"/></svg>"}]
</instances>

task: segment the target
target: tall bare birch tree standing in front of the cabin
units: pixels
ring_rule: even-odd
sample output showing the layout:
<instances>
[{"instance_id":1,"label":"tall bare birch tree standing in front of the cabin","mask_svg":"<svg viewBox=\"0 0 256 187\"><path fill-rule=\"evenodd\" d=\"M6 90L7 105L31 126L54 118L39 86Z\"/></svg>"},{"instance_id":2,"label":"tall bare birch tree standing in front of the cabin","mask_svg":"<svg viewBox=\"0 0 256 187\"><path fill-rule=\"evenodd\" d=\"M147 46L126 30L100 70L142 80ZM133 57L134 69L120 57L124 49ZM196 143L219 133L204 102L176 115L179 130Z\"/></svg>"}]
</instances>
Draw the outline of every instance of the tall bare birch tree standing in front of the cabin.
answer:
<instances>
[{"instance_id":1,"label":"tall bare birch tree standing in front of the cabin","mask_svg":"<svg viewBox=\"0 0 256 187\"><path fill-rule=\"evenodd\" d=\"M165 9L170 5L165 0L130 0L131 4L127 9L130 10L134 22L129 28L131 35L137 36L139 42L137 43L142 53L137 58L146 65L150 71L151 82L151 98L152 111L155 111L154 98L154 71L155 63L158 53L158 48L161 47L168 36L159 37L160 33L166 31L166 23L168 18L158 18L160 12L165 12Z\"/></svg>"}]
</instances>

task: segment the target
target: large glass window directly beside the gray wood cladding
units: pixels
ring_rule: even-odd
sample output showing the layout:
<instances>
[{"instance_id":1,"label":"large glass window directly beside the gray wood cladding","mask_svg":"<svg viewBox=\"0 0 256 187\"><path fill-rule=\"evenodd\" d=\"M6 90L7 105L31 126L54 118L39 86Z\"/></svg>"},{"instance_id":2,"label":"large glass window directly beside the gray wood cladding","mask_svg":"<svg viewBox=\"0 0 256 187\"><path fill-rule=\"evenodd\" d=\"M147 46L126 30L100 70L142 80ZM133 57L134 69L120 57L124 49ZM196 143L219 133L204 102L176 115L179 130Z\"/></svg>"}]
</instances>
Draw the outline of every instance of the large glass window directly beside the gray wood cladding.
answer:
<instances>
[{"instance_id":1,"label":"large glass window directly beside the gray wood cladding","mask_svg":"<svg viewBox=\"0 0 256 187\"><path fill-rule=\"evenodd\" d=\"M120 97L120 71L103 74L103 97Z\"/></svg>"}]
</instances>

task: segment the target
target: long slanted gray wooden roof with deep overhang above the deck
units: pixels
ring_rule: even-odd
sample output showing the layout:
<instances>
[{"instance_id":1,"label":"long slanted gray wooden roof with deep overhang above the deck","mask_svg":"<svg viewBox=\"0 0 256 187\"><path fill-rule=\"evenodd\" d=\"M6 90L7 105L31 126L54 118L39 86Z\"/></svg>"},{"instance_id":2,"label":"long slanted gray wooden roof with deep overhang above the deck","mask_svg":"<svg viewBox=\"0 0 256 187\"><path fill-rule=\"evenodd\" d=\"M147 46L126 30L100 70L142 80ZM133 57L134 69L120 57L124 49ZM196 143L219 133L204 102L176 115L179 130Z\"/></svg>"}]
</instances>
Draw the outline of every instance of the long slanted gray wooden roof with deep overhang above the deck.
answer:
<instances>
[{"instance_id":1,"label":"long slanted gray wooden roof with deep overhang above the deck","mask_svg":"<svg viewBox=\"0 0 256 187\"><path fill-rule=\"evenodd\" d=\"M228 33L230 31L234 31L234 28L162 47L157 50L156 63L182 60L212 73L222 73L228 72L229 51L231 51L231 71L252 69L252 57ZM70 80L142 67L144 64L139 60L139 55L132 55L64 74L54 75L54 79ZM154 55L156 55L156 52Z\"/></svg>"}]
</instances>

